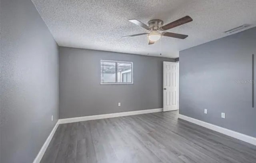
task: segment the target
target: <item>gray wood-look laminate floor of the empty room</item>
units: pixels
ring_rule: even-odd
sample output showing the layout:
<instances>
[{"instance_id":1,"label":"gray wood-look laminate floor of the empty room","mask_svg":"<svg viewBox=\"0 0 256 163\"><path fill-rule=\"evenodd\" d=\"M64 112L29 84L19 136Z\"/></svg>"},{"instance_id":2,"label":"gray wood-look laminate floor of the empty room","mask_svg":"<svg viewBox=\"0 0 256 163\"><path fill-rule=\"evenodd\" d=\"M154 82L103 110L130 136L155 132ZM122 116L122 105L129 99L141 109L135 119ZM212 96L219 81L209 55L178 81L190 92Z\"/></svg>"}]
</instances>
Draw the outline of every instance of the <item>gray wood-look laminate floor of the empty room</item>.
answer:
<instances>
[{"instance_id":1,"label":"gray wood-look laminate floor of the empty room","mask_svg":"<svg viewBox=\"0 0 256 163\"><path fill-rule=\"evenodd\" d=\"M256 146L172 111L59 125L40 163L256 163Z\"/></svg>"}]
</instances>

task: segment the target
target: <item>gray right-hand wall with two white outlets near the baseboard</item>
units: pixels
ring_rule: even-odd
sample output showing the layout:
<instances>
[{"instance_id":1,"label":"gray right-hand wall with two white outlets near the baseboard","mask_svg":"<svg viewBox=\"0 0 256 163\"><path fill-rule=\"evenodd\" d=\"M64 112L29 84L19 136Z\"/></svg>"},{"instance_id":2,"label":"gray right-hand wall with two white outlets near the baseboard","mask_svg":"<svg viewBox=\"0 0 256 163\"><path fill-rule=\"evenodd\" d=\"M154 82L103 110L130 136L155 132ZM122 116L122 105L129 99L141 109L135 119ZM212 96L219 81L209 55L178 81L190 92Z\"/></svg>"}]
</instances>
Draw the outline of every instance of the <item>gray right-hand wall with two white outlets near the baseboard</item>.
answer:
<instances>
[{"instance_id":1,"label":"gray right-hand wall with two white outlets near the baseboard","mask_svg":"<svg viewBox=\"0 0 256 163\"><path fill-rule=\"evenodd\" d=\"M256 137L252 84L236 83L252 79L252 54L256 28L181 51L180 113Z\"/></svg>"}]
</instances>

